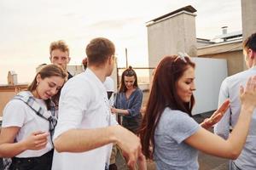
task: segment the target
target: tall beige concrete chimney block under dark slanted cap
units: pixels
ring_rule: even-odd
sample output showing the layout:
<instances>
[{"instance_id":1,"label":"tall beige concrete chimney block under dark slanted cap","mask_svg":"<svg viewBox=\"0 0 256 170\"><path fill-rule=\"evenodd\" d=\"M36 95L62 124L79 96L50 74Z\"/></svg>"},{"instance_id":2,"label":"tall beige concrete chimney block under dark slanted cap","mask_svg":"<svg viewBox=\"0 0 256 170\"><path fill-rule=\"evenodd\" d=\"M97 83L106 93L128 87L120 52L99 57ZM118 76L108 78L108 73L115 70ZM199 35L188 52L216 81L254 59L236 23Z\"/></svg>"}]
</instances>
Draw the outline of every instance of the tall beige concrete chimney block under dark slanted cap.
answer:
<instances>
[{"instance_id":1,"label":"tall beige concrete chimney block under dark slanted cap","mask_svg":"<svg viewBox=\"0 0 256 170\"><path fill-rule=\"evenodd\" d=\"M149 67L155 67L164 56L177 52L196 56L195 14L181 11L148 24Z\"/></svg>"}]
</instances>

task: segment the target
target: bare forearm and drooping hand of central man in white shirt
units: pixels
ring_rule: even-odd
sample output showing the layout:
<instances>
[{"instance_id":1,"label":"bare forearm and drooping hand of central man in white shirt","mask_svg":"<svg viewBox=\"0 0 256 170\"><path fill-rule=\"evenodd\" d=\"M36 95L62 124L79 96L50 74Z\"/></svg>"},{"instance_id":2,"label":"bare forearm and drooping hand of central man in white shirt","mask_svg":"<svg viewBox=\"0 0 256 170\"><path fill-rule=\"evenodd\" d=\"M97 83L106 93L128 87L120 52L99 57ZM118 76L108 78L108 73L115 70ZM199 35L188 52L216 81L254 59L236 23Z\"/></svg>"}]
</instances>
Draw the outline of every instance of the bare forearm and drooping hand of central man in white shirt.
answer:
<instances>
[{"instance_id":1,"label":"bare forearm and drooping hand of central man in white shirt","mask_svg":"<svg viewBox=\"0 0 256 170\"><path fill-rule=\"evenodd\" d=\"M141 154L140 140L119 125L95 129L70 129L54 140L58 152L84 152L110 143L119 145L128 160L128 166L133 167Z\"/></svg>"}]
</instances>

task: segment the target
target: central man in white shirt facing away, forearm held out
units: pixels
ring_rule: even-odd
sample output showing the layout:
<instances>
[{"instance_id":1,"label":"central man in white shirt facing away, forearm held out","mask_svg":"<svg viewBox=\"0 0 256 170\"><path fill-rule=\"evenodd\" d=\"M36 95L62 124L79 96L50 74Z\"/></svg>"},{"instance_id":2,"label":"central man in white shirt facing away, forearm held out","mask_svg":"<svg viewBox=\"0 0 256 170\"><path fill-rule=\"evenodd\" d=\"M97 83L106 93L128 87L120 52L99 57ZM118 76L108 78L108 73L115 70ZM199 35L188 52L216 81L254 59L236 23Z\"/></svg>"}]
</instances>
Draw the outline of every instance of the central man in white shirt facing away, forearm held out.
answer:
<instances>
[{"instance_id":1,"label":"central man in white shirt facing away, forearm held out","mask_svg":"<svg viewBox=\"0 0 256 170\"><path fill-rule=\"evenodd\" d=\"M62 88L53 170L108 169L112 144L118 144L124 151L131 168L137 159L145 167L137 136L111 118L102 82L113 71L114 52L113 42L108 39L91 40L86 47L86 71Z\"/></svg>"}]
</instances>

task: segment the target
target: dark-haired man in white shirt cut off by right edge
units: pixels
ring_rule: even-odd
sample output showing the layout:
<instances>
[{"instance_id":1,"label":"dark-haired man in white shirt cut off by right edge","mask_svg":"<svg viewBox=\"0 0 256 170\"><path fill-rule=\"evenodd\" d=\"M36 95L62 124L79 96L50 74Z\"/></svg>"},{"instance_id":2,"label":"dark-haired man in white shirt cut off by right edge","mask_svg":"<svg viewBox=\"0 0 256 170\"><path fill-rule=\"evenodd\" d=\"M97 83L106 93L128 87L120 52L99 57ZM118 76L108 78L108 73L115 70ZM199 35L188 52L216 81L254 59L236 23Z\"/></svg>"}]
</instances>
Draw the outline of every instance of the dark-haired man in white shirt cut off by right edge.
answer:
<instances>
[{"instance_id":1,"label":"dark-haired man in white shirt cut off by right edge","mask_svg":"<svg viewBox=\"0 0 256 170\"><path fill-rule=\"evenodd\" d=\"M214 127L214 133L224 139L230 135L230 127L235 127L241 110L239 88L244 85L249 77L256 75L256 33L247 37L243 42L243 54L245 62L249 68L247 71L241 71L236 75L227 77L222 82L218 104L222 104L225 99L230 99L230 108L226 111L223 118ZM253 119L250 125L246 144L241 155L235 160L230 161L230 170L256 169L256 112L253 112Z\"/></svg>"}]
</instances>

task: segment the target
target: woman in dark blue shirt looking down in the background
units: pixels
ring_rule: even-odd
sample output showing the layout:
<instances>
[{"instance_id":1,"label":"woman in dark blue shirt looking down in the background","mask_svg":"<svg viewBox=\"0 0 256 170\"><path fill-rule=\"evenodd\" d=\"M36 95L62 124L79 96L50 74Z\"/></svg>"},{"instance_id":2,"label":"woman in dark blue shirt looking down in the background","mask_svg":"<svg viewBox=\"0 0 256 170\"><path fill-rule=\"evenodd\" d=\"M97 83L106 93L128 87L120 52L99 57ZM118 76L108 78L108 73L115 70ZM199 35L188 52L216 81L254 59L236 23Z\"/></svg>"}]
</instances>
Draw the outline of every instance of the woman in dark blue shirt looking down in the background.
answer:
<instances>
[{"instance_id":1,"label":"woman in dark blue shirt looking down in the background","mask_svg":"<svg viewBox=\"0 0 256 170\"><path fill-rule=\"evenodd\" d=\"M122 73L119 93L116 95L112 113L123 116L123 127L137 133L141 125L140 113L143 102L143 91L138 88L137 74L131 66Z\"/></svg>"}]
</instances>

